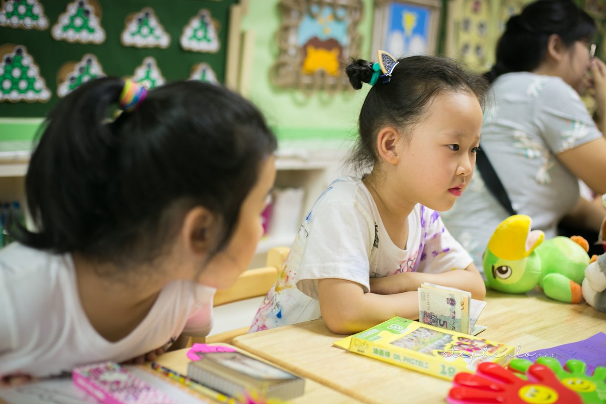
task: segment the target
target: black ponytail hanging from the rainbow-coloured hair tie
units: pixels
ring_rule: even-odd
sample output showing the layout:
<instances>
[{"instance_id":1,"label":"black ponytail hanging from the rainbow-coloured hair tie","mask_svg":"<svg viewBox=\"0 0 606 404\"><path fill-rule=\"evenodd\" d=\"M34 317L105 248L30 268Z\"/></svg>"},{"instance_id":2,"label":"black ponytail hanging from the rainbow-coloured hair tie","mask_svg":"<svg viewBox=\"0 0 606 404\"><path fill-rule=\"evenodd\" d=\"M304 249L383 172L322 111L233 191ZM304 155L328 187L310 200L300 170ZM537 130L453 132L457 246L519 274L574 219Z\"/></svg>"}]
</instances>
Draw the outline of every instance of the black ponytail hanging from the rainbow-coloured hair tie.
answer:
<instances>
[{"instance_id":1,"label":"black ponytail hanging from the rainbow-coloured hair tie","mask_svg":"<svg viewBox=\"0 0 606 404\"><path fill-rule=\"evenodd\" d=\"M22 231L21 242L35 248L68 251L94 231L111 178L116 139L105 121L124 82L102 78L68 94L42 127L25 180L27 205L36 233Z\"/></svg>"}]
</instances>

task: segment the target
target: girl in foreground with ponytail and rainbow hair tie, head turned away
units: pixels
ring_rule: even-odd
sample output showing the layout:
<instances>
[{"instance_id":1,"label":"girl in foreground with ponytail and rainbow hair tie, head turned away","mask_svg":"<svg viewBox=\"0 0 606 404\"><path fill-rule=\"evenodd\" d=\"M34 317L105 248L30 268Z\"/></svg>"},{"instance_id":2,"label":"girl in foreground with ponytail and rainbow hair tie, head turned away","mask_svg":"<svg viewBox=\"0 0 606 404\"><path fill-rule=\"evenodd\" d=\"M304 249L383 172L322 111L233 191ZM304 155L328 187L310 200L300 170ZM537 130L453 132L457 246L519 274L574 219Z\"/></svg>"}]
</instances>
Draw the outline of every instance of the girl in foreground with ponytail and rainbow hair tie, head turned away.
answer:
<instances>
[{"instance_id":1,"label":"girl in foreground with ponytail and rainbow hair tie, head turned away","mask_svg":"<svg viewBox=\"0 0 606 404\"><path fill-rule=\"evenodd\" d=\"M275 148L261 113L219 86L102 78L68 94L27 171L36 230L0 251L0 377L153 360L205 336L215 290L261 237Z\"/></svg>"}]
</instances>

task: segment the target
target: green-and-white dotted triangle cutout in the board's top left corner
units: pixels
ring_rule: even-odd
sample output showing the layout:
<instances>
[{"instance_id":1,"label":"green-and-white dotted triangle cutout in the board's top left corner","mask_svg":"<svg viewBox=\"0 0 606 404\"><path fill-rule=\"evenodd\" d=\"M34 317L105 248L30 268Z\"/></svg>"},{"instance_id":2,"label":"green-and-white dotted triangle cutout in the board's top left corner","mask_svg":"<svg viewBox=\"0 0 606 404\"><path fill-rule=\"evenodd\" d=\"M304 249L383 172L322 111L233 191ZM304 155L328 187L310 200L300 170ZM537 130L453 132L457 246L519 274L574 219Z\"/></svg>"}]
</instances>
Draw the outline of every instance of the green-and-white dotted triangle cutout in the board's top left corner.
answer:
<instances>
[{"instance_id":1,"label":"green-and-white dotted triangle cutout in the board's top left corner","mask_svg":"<svg viewBox=\"0 0 606 404\"><path fill-rule=\"evenodd\" d=\"M45 30L48 18L38 0L6 0L0 9L0 27Z\"/></svg>"}]
</instances>

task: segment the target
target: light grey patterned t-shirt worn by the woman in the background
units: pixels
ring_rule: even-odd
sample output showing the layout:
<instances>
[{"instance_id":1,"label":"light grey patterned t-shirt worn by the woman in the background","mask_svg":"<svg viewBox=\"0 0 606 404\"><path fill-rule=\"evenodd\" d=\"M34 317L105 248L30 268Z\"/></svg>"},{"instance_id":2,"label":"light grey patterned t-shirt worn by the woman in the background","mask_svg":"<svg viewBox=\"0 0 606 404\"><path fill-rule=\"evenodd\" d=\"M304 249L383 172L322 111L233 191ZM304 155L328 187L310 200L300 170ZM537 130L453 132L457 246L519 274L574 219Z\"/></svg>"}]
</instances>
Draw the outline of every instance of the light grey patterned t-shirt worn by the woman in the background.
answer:
<instances>
[{"instance_id":1,"label":"light grey patterned t-shirt worn by the woman in the background","mask_svg":"<svg viewBox=\"0 0 606 404\"><path fill-rule=\"evenodd\" d=\"M601 136L579 94L561 78L507 73L492 85L481 147L513 208L530 216L533 228L551 238L579 200L578 179L556 154ZM454 207L442 213L448 230L478 269L491 234L507 216L479 172Z\"/></svg>"}]
</instances>

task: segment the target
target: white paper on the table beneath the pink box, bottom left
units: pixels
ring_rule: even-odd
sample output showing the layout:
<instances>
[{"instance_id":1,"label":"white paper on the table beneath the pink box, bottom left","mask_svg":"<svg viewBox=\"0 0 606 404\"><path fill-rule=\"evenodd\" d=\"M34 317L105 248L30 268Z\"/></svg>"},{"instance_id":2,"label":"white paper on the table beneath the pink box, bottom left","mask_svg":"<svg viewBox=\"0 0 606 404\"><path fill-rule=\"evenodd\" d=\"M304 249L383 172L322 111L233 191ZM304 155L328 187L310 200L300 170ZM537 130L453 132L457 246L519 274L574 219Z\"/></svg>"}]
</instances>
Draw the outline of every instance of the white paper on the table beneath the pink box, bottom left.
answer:
<instances>
[{"instance_id":1,"label":"white paper on the table beneath the pink box, bottom left","mask_svg":"<svg viewBox=\"0 0 606 404\"><path fill-rule=\"evenodd\" d=\"M199 404L200 399L191 396L184 390L164 382L158 376L154 376L136 366L124 366L128 371L135 374L145 382L155 386L171 399L179 403ZM44 379L35 383L10 388L0 388L0 399L8 404L97 404L98 401L87 393L77 388L70 377L59 377ZM210 400L208 401L210 402Z\"/></svg>"}]
</instances>

